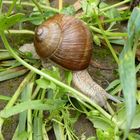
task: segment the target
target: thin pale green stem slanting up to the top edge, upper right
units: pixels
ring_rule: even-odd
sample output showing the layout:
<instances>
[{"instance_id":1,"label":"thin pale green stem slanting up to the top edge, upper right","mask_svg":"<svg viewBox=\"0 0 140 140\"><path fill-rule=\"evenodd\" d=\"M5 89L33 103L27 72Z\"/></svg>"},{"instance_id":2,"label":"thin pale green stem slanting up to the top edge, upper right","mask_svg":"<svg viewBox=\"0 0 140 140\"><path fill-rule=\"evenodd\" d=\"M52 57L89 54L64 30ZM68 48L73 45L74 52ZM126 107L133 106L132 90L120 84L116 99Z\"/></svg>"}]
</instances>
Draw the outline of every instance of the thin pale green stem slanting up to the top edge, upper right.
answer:
<instances>
[{"instance_id":1,"label":"thin pale green stem slanting up to the top edge, upper right","mask_svg":"<svg viewBox=\"0 0 140 140\"><path fill-rule=\"evenodd\" d=\"M107 11L107 10L109 10L109 9L112 9L112 8L115 8L115 7L118 7L118 6L121 6L121 5L123 5L123 4L125 4L125 3L128 3L128 2L131 2L131 0L124 0L124 1L122 1L122 2L113 4L113 5L111 5L111 6L107 6L107 7L105 7L105 8L102 8L100 11L101 11L101 12L105 12L105 11Z\"/></svg>"}]
</instances>

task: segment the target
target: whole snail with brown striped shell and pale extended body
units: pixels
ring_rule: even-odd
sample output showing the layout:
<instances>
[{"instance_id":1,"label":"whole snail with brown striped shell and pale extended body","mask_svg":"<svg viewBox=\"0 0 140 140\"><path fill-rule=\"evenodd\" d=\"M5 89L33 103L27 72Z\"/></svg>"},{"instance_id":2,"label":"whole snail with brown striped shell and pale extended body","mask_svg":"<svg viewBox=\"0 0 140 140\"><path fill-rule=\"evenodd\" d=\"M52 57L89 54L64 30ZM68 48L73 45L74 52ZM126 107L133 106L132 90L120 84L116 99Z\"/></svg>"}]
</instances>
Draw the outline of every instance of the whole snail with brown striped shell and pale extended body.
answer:
<instances>
[{"instance_id":1,"label":"whole snail with brown striped shell and pale extended body","mask_svg":"<svg viewBox=\"0 0 140 140\"><path fill-rule=\"evenodd\" d=\"M29 45L22 48L29 48ZM73 86L91 100L106 108L106 100L120 102L93 81L86 68L92 56L92 36L79 19L66 15L55 15L35 30L34 44L42 59L51 59L65 69L73 71ZM22 51L22 49L21 49Z\"/></svg>"}]
</instances>

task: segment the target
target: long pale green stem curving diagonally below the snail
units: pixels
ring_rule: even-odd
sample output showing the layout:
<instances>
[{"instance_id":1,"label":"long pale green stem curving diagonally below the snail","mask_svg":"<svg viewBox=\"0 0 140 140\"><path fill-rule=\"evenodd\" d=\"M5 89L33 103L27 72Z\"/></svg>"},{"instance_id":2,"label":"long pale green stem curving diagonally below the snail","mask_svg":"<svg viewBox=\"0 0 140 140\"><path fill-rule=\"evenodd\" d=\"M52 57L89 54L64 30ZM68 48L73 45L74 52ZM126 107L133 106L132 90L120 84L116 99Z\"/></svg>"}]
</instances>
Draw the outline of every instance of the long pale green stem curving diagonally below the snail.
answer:
<instances>
[{"instance_id":1,"label":"long pale green stem curving diagonally below the snail","mask_svg":"<svg viewBox=\"0 0 140 140\"><path fill-rule=\"evenodd\" d=\"M24 65L25 67L27 67L28 69L30 69L31 71L43 76L44 78L54 82L55 84L57 84L58 86L61 86L67 90L70 91L71 94L73 94L74 97L76 97L77 100L79 100L81 102L81 99L83 99L84 101L88 102L89 104L91 104L92 106L94 106L97 110L99 110L106 118L112 120L116 125L117 125L117 121L116 119L112 118L112 116L110 114L108 114L104 109L102 109L99 105L97 105L96 103L94 103L91 99L89 99L87 96L85 96L84 94L82 94L81 92L75 90L74 88L58 81L57 79L51 77L50 75L38 70L37 68L29 65L27 62L25 62L24 60L22 60L16 53L15 51L10 47L6 36L4 35L4 33L1 33L1 38L3 40L3 43L5 45L5 47L7 48L7 50L9 51L9 53L17 60L19 61L22 65Z\"/></svg>"}]
</instances>

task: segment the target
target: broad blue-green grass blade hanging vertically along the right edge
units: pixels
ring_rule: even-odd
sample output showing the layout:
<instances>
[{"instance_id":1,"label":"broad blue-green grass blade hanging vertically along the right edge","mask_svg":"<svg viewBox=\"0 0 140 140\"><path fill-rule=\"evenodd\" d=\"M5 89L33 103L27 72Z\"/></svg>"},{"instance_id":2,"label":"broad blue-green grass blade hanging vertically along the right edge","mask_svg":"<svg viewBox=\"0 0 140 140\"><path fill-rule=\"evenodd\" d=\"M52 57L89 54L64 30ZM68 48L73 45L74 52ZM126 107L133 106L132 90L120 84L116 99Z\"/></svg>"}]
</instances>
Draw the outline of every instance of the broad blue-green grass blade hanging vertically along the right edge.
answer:
<instances>
[{"instance_id":1,"label":"broad blue-green grass blade hanging vertically along the right edge","mask_svg":"<svg viewBox=\"0 0 140 140\"><path fill-rule=\"evenodd\" d=\"M136 68L135 51L140 37L140 9L135 8L128 22L128 39L123 51L120 54L119 73L120 81L126 104L126 131L128 136L133 117L136 111Z\"/></svg>"}]
</instances>

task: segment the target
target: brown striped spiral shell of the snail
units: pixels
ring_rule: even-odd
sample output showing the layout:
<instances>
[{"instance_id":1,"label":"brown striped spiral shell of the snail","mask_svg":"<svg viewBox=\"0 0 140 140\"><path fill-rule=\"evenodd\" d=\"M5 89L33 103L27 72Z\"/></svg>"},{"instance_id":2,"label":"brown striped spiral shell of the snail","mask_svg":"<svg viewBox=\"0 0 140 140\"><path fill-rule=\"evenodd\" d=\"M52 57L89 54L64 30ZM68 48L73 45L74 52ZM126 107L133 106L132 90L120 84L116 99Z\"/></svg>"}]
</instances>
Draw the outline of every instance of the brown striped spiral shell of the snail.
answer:
<instances>
[{"instance_id":1,"label":"brown striped spiral shell of the snail","mask_svg":"<svg viewBox=\"0 0 140 140\"><path fill-rule=\"evenodd\" d=\"M49 58L70 70L88 67L92 37L86 25L72 16L56 15L35 31L34 46L41 58Z\"/></svg>"}]
</instances>

